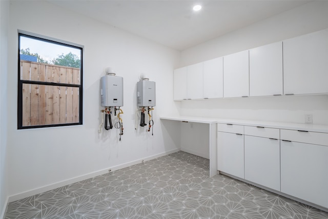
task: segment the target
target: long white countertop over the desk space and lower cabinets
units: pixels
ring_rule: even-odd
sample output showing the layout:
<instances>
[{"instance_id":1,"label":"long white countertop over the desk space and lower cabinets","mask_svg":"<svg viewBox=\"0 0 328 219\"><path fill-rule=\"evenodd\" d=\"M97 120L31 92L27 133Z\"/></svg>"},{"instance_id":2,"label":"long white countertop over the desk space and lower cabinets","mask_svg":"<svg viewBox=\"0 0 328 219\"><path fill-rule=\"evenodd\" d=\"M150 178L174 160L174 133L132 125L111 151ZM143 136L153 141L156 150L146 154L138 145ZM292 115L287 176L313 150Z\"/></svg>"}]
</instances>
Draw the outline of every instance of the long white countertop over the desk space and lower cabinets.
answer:
<instances>
[{"instance_id":1,"label":"long white countertop over the desk space and lower cabinets","mask_svg":"<svg viewBox=\"0 0 328 219\"><path fill-rule=\"evenodd\" d=\"M228 118L211 118L211 117L197 117L197 116L160 116L161 120L174 120L183 122L194 122L194 123L229 123L234 125L243 126L263 126L267 128L277 129L292 129L292 130L303 130L313 132L324 132L328 133L328 125L318 124L303 124L303 123L283 123L283 122L270 122L270 121L255 121L255 120L233 120Z\"/></svg>"}]
</instances>

